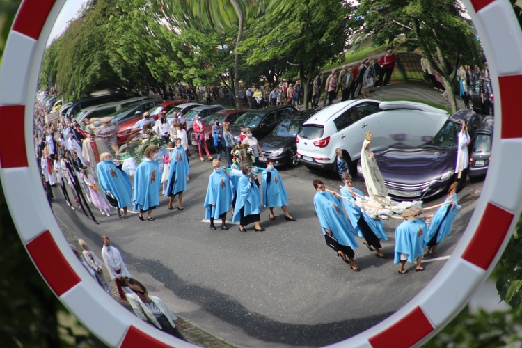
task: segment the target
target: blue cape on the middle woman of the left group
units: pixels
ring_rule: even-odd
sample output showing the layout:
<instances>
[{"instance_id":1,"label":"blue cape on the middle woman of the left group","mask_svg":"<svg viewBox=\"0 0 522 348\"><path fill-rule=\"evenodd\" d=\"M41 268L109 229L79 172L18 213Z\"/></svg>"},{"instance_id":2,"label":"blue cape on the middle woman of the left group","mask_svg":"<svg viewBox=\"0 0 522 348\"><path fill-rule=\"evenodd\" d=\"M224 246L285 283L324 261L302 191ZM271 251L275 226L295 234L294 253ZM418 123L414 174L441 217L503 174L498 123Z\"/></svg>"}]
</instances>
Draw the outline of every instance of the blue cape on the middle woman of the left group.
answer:
<instances>
[{"instance_id":1,"label":"blue cape on the middle woman of the left group","mask_svg":"<svg viewBox=\"0 0 522 348\"><path fill-rule=\"evenodd\" d=\"M134 173L134 210L148 210L159 205L161 173L157 161L143 160Z\"/></svg>"}]
</instances>

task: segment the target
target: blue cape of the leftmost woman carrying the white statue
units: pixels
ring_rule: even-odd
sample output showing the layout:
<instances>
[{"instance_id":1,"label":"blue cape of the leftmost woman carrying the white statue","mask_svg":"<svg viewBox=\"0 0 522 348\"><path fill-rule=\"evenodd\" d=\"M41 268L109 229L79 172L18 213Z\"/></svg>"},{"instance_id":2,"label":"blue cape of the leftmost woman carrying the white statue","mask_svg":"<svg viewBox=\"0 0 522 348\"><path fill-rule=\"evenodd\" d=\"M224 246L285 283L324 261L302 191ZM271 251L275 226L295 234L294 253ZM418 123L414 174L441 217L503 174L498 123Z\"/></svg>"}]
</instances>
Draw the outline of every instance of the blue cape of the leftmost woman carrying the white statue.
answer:
<instances>
[{"instance_id":1,"label":"blue cape of the leftmost woman carrying the white statue","mask_svg":"<svg viewBox=\"0 0 522 348\"><path fill-rule=\"evenodd\" d=\"M326 235L325 229L328 228L339 244L352 249L358 248L354 228L351 227L345 213L342 212L339 198L326 191L317 192L314 196L314 207L323 235Z\"/></svg>"}]
</instances>

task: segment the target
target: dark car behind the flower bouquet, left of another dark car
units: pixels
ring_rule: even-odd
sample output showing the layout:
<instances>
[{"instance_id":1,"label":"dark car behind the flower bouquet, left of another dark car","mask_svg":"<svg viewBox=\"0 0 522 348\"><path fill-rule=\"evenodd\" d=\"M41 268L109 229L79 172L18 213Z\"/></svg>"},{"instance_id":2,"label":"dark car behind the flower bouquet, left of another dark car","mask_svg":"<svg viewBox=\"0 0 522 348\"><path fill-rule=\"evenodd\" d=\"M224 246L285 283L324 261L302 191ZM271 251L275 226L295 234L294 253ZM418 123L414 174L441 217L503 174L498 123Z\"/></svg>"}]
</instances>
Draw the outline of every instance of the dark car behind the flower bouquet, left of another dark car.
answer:
<instances>
[{"instance_id":1,"label":"dark car behind the flower bouquet, left of another dark car","mask_svg":"<svg viewBox=\"0 0 522 348\"><path fill-rule=\"evenodd\" d=\"M259 141L270 134L285 117L296 111L293 105L271 106L265 109L251 110L239 116L235 120L234 125L230 126L230 131L236 141L239 141L239 134L241 133L239 126L250 128L252 135Z\"/></svg>"}]
</instances>

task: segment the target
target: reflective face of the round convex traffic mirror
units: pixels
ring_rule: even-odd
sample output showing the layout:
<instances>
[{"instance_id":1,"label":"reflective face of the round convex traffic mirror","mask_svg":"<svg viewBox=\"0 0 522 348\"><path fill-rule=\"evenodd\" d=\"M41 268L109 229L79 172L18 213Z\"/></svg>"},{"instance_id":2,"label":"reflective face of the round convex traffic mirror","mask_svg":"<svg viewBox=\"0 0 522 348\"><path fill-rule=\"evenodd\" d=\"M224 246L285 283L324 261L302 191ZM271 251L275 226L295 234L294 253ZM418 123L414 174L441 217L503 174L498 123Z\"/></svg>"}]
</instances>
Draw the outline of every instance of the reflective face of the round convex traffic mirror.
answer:
<instances>
[{"instance_id":1,"label":"reflective face of the round convex traffic mirror","mask_svg":"<svg viewBox=\"0 0 522 348\"><path fill-rule=\"evenodd\" d=\"M448 260L487 173L494 99L466 10L198 3L66 7L34 113L65 237L189 342L322 346L381 322Z\"/></svg>"}]
</instances>

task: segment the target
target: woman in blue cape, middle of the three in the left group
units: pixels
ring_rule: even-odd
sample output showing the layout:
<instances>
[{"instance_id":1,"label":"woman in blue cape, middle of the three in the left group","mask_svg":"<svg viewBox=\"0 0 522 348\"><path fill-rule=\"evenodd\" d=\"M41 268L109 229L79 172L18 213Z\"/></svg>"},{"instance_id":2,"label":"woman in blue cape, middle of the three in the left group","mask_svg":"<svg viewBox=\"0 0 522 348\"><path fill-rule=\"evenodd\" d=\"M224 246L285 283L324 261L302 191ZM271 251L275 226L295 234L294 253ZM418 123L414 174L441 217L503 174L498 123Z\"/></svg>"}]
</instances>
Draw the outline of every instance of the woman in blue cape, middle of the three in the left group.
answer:
<instances>
[{"instance_id":1,"label":"woman in blue cape, middle of the three in the left group","mask_svg":"<svg viewBox=\"0 0 522 348\"><path fill-rule=\"evenodd\" d=\"M147 212L147 220L153 221L152 209L159 205L159 187L161 186L159 164L153 158L158 152L157 145L150 145L143 153L143 161L134 173L134 210L140 211L139 219L143 219L143 212Z\"/></svg>"}]
</instances>

